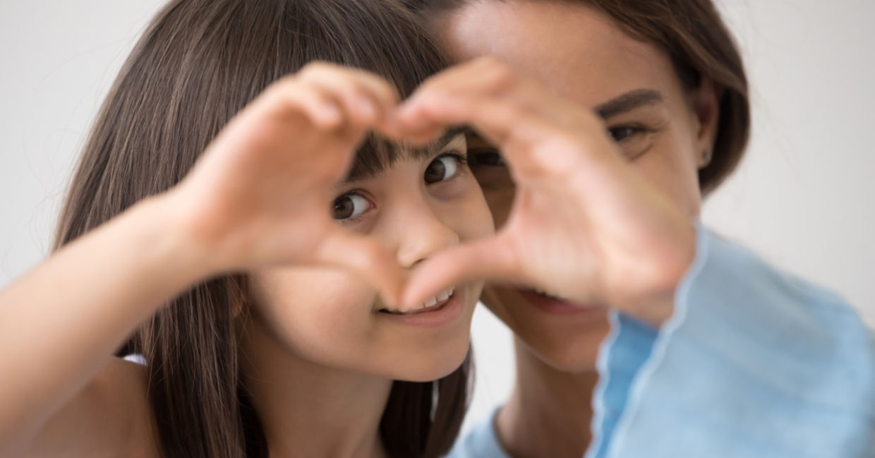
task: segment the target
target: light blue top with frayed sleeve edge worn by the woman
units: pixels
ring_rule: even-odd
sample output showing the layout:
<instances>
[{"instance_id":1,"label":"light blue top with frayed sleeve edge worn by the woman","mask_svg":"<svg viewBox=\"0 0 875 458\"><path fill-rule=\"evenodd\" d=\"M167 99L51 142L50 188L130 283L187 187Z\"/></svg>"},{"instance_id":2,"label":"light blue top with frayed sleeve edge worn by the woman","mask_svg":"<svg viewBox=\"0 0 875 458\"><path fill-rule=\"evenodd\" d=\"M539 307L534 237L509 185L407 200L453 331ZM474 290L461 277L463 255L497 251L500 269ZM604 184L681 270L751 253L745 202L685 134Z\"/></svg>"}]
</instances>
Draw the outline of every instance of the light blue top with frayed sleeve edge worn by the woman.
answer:
<instances>
[{"instance_id":1,"label":"light blue top with frayed sleeve edge worn by the woman","mask_svg":"<svg viewBox=\"0 0 875 458\"><path fill-rule=\"evenodd\" d=\"M832 292L697 229L662 328L612 314L586 458L875 457L875 338ZM492 418L452 458L508 458Z\"/></svg>"}]
</instances>

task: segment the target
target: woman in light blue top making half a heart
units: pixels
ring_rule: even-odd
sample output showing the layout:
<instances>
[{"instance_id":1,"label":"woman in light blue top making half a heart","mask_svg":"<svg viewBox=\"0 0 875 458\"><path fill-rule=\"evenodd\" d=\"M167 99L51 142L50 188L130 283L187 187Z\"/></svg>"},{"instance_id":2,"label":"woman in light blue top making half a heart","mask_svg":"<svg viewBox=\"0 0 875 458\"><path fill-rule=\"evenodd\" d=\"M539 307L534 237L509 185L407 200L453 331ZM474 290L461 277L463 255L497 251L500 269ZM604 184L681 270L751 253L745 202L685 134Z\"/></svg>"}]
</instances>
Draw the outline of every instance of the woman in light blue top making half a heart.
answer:
<instances>
[{"instance_id":1,"label":"woman in light blue top making half a heart","mask_svg":"<svg viewBox=\"0 0 875 458\"><path fill-rule=\"evenodd\" d=\"M426 83L405 118L486 137L470 163L504 227L430 259L408 294L504 283L484 302L517 337L514 391L453 456L869 456L857 315L696 222L748 131L711 2L408 4L453 60L495 58Z\"/></svg>"}]
</instances>

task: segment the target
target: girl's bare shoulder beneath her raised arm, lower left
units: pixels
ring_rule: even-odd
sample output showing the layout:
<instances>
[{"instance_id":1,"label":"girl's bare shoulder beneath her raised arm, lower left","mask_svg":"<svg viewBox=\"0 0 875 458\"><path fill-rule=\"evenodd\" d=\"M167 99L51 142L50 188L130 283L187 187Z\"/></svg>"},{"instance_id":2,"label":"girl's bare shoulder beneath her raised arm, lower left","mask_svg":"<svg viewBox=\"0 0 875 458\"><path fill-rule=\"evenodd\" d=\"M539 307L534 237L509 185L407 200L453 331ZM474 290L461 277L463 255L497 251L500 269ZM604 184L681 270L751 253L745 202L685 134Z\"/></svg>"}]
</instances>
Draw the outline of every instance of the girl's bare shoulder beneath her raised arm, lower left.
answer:
<instances>
[{"instance_id":1,"label":"girl's bare shoulder beneath her raised arm, lower left","mask_svg":"<svg viewBox=\"0 0 875 458\"><path fill-rule=\"evenodd\" d=\"M112 358L49 420L27 456L159 458L147 379L143 365Z\"/></svg>"}]
</instances>

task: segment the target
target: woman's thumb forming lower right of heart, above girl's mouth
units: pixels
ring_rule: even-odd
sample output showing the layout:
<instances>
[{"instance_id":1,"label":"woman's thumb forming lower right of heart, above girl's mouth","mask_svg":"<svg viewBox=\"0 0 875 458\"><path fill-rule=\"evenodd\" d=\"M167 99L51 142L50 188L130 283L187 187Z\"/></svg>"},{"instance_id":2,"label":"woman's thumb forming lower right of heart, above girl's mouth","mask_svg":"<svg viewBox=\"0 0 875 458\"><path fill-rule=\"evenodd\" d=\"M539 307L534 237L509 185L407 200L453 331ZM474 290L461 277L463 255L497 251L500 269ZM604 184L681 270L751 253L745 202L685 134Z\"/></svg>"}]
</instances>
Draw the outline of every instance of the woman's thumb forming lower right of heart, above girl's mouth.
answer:
<instances>
[{"instance_id":1,"label":"woman's thumb forming lower right of heart, above girl's mouth","mask_svg":"<svg viewBox=\"0 0 875 458\"><path fill-rule=\"evenodd\" d=\"M448 287L481 280L523 282L525 276L505 237L496 236L444 250L423 261L409 278L402 307L420 304Z\"/></svg>"}]
</instances>

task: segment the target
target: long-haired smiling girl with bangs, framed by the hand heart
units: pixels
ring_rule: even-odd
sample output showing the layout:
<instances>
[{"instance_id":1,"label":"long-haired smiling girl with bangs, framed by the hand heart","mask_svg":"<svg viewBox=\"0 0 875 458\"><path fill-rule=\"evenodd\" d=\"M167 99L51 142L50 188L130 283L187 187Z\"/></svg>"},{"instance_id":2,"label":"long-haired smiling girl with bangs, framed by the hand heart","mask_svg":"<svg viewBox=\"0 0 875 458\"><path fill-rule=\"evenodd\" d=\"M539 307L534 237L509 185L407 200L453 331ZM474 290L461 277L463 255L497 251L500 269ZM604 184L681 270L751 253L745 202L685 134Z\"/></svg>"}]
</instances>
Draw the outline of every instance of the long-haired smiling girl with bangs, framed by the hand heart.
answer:
<instances>
[{"instance_id":1,"label":"long-haired smiling girl with bangs, framed by the hand heart","mask_svg":"<svg viewBox=\"0 0 875 458\"><path fill-rule=\"evenodd\" d=\"M443 65L388 0L168 4L0 293L0 455L444 454L481 285L390 298L493 224L464 136L367 135Z\"/></svg>"}]
</instances>

